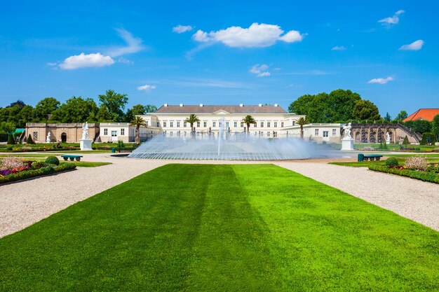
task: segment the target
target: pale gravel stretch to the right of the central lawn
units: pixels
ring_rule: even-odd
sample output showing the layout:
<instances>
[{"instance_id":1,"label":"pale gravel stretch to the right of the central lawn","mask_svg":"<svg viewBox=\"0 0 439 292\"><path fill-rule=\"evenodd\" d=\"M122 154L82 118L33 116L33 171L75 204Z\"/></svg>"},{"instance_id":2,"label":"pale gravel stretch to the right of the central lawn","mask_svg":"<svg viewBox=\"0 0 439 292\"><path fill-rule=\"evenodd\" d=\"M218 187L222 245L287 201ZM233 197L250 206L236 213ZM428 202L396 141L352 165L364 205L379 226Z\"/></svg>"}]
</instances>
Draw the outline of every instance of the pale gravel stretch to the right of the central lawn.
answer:
<instances>
[{"instance_id":1,"label":"pale gravel stretch to the right of the central lawn","mask_svg":"<svg viewBox=\"0 0 439 292\"><path fill-rule=\"evenodd\" d=\"M276 165L439 231L439 184L373 172L367 167L316 162L276 162Z\"/></svg>"}]
</instances>

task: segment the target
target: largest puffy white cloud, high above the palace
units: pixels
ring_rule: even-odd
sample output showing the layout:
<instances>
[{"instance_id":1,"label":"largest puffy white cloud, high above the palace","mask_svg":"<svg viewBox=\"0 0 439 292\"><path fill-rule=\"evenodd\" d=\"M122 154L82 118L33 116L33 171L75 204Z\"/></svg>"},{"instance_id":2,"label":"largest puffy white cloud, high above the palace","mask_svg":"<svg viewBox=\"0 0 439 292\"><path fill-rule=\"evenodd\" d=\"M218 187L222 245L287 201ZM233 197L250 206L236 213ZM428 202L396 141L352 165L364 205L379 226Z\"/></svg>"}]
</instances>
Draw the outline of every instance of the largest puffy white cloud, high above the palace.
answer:
<instances>
[{"instance_id":1,"label":"largest puffy white cloud, high above the palace","mask_svg":"<svg viewBox=\"0 0 439 292\"><path fill-rule=\"evenodd\" d=\"M203 32L198 30L192 38L195 41L219 42L232 48L263 48L272 46L276 41L294 43L302 41L304 34L295 30L283 34L283 30L278 25L266 25L264 23L253 23L248 28L229 27L216 32Z\"/></svg>"}]
</instances>

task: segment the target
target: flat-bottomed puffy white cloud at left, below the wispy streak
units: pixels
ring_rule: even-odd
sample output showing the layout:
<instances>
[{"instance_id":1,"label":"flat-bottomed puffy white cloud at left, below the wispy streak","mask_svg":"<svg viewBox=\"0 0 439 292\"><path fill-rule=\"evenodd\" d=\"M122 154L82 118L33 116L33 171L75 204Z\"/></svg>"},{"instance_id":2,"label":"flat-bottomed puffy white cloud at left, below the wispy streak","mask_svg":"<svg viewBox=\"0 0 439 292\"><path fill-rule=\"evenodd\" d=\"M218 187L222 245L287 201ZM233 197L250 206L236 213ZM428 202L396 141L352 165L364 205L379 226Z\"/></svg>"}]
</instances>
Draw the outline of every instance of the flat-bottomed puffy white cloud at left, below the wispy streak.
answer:
<instances>
[{"instance_id":1,"label":"flat-bottomed puffy white cloud at left, below the wispy streak","mask_svg":"<svg viewBox=\"0 0 439 292\"><path fill-rule=\"evenodd\" d=\"M104 56L101 53L74 55L67 57L60 64L61 69L72 70L86 67L104 67L114 64L114 60L110 56Z\"/></svg>"}]
</instances>

